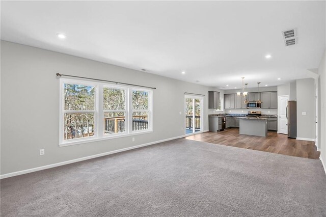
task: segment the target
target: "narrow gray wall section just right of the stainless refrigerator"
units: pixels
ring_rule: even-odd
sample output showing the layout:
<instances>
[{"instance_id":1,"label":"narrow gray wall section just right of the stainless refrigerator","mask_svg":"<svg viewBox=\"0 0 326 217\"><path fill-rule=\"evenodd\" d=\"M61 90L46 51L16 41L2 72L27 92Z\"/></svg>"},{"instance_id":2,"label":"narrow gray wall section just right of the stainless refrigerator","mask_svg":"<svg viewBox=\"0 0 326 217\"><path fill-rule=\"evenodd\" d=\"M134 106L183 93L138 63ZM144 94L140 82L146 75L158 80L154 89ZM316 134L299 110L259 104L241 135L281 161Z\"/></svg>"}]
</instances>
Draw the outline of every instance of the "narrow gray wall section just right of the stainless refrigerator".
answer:
<instances>
[{"instance_id":1,"label":"narrow gray wall section just right of the stainless refrigerator","mask_svg":"<svg viewBox=\"0 0 326 217\"><path fill-rule=\"evenodd\" d=\"M302 113L305 112L306 115ZM297 138L315 139L315 84L313 78L296 80Z\"/></svg>"}]
</instances>

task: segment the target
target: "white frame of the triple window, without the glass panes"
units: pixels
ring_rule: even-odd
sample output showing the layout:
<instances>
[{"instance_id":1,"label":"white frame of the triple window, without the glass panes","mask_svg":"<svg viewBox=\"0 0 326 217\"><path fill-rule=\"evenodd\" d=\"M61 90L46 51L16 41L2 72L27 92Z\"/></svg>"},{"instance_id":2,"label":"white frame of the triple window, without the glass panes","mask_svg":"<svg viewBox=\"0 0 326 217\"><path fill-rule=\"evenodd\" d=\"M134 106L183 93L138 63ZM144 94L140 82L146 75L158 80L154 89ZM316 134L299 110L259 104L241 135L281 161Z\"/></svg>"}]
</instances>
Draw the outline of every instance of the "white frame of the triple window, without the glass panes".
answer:
<instances>
[{"instance_id":1,"label":"white frame of the triple window, without the glass panes","mask_svg":"<svg viewBox=\"0 0 326 217\"><path fill-rule=\"evenodd\" d=\"M92 137L85 138L76 138L70 140L64 140L64 102L63 102L63 94L64 94L64 84L76 84L76 85L86 85L86 86L94 86L95 87L95 102L94 102L94 135ZM104 134L104 124L102 120L104 120L104 112L111 112L111 110L103 109L103 88L116 88L123 89L126 91L126 111L125 111L125 132L114 133L114 134ZM110 140L121 137L128 137L130 135L135 134L144 134L153 132L152 122L153 122L153 91L149 88L138 88L133 86L122 86L122 85L114 85L108 83L100 83L100 82L91 82L88 80L79 80L79 79L69 79L69 78L60 78L60 97L59 97L59 146L70 146L77 145L83 143L90 143L101 140ZM137 91L146 91L148 92L148 110L144 110L148 112L148 129L144 130L132 130L132 90ZM117 112L118 110L114 110L112 112ZM137 110L140 111L140 110ZM71 112L71 111L69 111ZM77 111L83 113L94 113L94 111ZM124 111L123 111L124 112Z\"/></svg>"}]
</instances>

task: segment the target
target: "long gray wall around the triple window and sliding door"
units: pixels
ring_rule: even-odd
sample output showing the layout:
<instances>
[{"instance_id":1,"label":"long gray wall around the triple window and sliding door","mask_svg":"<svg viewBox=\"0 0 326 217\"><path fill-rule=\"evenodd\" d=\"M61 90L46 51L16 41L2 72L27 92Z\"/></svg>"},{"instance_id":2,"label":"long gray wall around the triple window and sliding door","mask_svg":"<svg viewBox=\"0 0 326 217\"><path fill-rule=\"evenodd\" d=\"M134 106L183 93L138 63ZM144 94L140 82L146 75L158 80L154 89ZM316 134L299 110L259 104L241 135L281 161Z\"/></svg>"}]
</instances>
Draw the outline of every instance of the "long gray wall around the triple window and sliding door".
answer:
<instances>
[{"instance_id":1,"label":"long gray wall around the triple window and sliding door","mask_svg":"<svg viewBox=\"0 0 326 217\"><path fill-rule=\"evenodd\" d=\"M153 132L59 147L57 72L156 87ZM1 76L2 175L180 137L184 92L205 94L203 130L208 130L210 88L198 84L6 41L1 41Z\"/></svg>"}]
</instances>

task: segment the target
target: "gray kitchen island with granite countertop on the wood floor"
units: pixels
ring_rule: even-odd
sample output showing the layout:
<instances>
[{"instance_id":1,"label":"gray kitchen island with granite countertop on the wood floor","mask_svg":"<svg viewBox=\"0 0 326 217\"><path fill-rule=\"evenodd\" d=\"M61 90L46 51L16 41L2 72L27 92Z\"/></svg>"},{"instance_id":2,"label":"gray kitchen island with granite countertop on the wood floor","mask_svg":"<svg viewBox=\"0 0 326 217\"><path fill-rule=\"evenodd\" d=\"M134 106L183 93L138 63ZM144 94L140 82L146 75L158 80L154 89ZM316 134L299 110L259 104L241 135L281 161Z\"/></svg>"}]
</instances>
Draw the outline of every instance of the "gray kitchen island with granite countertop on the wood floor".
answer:
<instances>
[{"instance_id":1,"label":"gray kitchen island with granite countertop on the wood floor","mask_svg":"<svg viewBox=\"0 0 326 217\"><path fill-rule=\"evenodd\" d=\"M239 117L238 119L239 134L267 137L268 118Z\"/></svg>"}]
</instances>

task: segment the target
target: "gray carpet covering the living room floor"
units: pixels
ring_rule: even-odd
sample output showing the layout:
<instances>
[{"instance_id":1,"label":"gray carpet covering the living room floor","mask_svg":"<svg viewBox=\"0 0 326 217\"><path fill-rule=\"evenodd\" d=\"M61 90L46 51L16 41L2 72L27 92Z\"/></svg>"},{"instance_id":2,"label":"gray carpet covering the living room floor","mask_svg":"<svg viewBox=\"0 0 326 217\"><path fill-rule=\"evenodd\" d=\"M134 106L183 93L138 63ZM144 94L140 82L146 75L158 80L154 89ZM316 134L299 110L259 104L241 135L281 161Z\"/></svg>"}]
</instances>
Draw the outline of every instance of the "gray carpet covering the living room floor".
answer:
<instances>
[{"instance_id":1,"label":"gray carpet covering the living room floor","mask_svg":"<svg viewBox=\"0 0 326 217\"><path fill-rule=\"evenodd\" d=\"M1 180L2 216L326 216L320 160L173 140Z\"/></svg>"}]
</instances>

